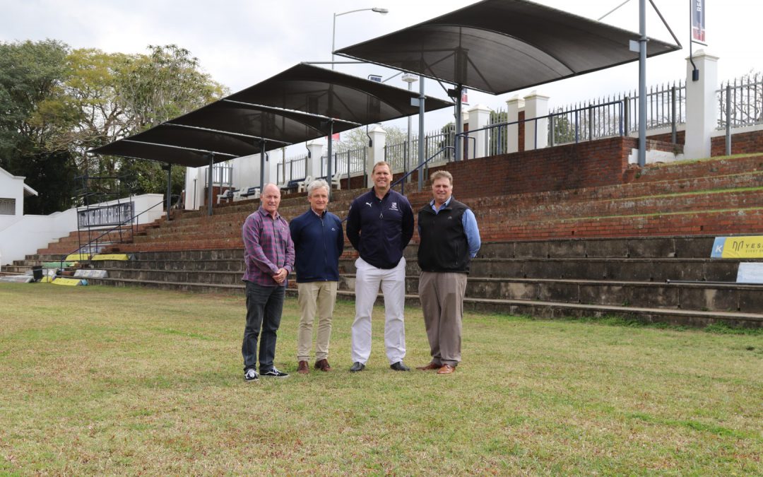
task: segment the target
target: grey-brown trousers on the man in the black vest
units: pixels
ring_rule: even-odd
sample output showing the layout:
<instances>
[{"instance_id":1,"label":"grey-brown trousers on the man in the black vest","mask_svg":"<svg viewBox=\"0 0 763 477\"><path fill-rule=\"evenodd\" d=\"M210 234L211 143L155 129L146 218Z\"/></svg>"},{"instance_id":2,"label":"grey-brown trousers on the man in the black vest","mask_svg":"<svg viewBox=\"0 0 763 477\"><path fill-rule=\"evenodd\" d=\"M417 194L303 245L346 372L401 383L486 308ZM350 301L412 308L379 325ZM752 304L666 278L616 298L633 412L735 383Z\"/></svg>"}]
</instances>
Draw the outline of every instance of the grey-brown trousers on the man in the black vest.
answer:
<instances>
[{"instance_id":1,"label":"grey-brown trousers on the man in the black vest","mask_svg":"<svg viewBox=\"0 0 763 477\"><path fill-rule=\"evenodd\" d=\"M421 272L419 299L427 327L432 363L461 362L461 321L466 293L465 273Z\"/></svg>"}]
</instances>

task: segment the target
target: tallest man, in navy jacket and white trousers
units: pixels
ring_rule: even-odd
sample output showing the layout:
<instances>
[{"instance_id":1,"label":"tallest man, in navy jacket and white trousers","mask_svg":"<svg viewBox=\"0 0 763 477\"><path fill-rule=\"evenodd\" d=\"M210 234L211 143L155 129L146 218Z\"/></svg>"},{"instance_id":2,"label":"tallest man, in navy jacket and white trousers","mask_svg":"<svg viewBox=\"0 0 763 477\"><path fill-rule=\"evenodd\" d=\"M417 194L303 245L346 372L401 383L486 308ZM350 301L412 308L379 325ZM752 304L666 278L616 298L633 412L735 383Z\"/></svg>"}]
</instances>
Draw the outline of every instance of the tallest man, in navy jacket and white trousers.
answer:
<instances>
[{"instance_id":1,"label":"tallest man, in navy jacket and white trousers","mask_svg":"<svg viewBox=\"0 0 763 477\"><path fill-rule=\"evenodd\" d=\"M404 195L391 190L392 172L384 161L374 165L373 188L357 197L347 216L347 237L359 252L355 262L355 321L352 329L353 367L365 368L371 355L371 311L379 285L384 294L385 347L391 369L404 365L405 259L403 250L414 235L414 211Z\"/></svg>"}]
</instances>

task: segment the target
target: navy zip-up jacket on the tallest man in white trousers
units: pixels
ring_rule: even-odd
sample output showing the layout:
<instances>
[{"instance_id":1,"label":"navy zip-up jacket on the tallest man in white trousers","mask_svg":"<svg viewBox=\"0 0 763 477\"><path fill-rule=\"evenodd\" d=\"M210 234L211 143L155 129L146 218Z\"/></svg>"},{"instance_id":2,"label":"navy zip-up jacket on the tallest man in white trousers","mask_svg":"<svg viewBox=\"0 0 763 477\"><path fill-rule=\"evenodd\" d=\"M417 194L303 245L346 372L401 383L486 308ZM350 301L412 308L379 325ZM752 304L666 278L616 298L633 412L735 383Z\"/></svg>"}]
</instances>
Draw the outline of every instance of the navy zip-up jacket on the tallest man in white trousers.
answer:
<instances>
[{"instance_id":1,"label":"navy zip-up jacket on the tallest man in white trousers","mask_svg":"<svg viewBox=\"0 0 763 477\"><path fill-rule=\"evenodd\" d=\"M394 269L413 236L414 211L400 192L379 199L372 188L349 206L347 238L372 266Z\"/></svg>"}]
</instances>

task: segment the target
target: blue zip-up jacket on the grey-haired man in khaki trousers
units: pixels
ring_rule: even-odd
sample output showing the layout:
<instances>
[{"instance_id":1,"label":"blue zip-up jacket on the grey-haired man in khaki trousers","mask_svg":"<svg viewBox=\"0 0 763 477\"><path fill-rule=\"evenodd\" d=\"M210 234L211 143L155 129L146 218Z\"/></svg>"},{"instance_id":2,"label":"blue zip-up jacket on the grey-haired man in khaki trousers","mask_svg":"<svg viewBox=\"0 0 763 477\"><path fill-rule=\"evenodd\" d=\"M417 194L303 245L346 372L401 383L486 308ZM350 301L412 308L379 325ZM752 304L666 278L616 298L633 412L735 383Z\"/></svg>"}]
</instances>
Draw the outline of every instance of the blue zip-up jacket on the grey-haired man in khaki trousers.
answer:
<instances>
[{"instance_id":1,"label":"blue zip-up jacket on the grey-haired man in khaki trousers","mask_svg":"<svg viewBox=\"0 0 763 477\"><path fill-rule=\"evenodd\" d=\"M342 221L329 211L322 217L309 209L289 223L294 242L297 282L339 281L339 257L344 251Z\"/></svg>"}]
</instances>

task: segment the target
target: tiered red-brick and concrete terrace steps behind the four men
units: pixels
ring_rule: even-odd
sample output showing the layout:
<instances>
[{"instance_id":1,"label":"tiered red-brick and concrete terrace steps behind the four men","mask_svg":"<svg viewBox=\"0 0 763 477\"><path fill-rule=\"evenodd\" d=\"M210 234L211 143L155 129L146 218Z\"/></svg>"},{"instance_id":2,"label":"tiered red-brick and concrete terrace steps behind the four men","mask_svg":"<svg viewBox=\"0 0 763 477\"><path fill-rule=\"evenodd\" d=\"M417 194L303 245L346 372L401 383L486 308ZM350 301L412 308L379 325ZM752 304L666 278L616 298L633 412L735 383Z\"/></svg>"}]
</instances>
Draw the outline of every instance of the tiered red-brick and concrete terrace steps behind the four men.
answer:
<instances>
[{"instance_id":1,"label":"tiered red-brick and concrete terrace steps behind the four men","mask_svg":"<svg viewBox=\"0 0 763 477\"><path fill-rule=\"evenodd\" d=\"M763 154L651 165L628 170L623 183L579 189L483 195L470 186L478 160L448 166L462 172L454 195L478 218L483 247L472 265L467 308L536 317L635 317L673 324L763 323L763 287L737 285L739 260L710 259L713 238L763 234ZM333 193L331 210L346 216L359 190ZM414 210L430 192L408 193ZM107 262L108 279L199 292L243 293L241 225L259 201L183 211L107 251L133 253ZM307 209L287 195L288 219ZM417 303L414 235L407 251L407 293ZM42 252L42 250L41 250ZM340 261L340 296L353 298L349 244ZM44 255L34 257L46 260ZM57 258L56 258L57 259ZM745 260L749 262L753 260ZM678 281L678 282L677 282ZM293 291L292 291L293 292Z\"/></svg>"}]
</instances>

